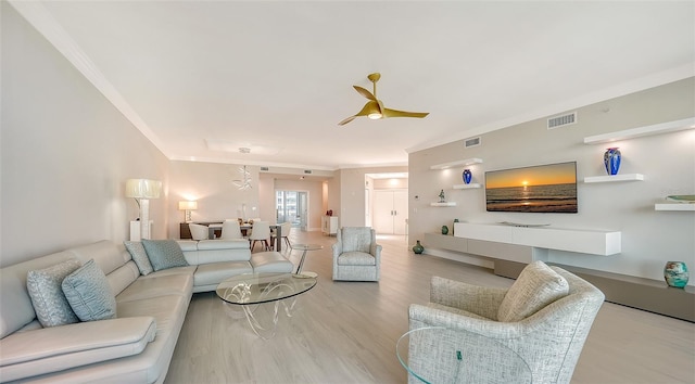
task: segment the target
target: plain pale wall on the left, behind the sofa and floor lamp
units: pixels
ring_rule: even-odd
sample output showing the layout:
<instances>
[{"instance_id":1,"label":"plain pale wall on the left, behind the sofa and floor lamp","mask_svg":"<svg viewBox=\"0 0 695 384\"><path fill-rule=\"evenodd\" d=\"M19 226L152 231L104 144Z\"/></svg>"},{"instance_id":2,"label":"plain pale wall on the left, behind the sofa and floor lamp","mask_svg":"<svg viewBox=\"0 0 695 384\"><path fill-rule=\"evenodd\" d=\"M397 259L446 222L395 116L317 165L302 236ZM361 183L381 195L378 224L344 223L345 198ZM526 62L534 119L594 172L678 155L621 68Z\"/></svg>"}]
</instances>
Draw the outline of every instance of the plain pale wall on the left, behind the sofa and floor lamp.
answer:
<instances>
[{"instance_id":1,"label":"plain pale wall on the left, behind the sofa and floor lamp","mask_svg":"<svg viewBox=\"0 0 695 384\"><path fill-rule=\"evenodd\" d=\"M7 2L2 35L0 266L129 238L129 178L159 179L168 161ZM165 238L166 195L150 202Z\"/></svg>"}]
</instances>

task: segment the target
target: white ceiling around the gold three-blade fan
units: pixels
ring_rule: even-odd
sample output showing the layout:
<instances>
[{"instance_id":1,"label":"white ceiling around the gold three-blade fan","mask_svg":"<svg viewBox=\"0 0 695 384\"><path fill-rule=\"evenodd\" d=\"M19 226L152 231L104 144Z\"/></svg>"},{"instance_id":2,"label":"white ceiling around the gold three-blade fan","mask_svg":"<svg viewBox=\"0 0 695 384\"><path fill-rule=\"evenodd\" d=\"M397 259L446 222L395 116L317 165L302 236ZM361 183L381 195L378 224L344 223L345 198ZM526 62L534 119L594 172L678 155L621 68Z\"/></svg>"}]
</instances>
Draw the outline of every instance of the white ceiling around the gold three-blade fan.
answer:
<instances>
[{"instance_id":1,"label":"white ceiling around the gold three-blade fan","mask_svg":"<svg viewBox=\"0 0 695 384\"><path fill-rule=\"evenodd\" d=\"M172 159L405 165L695 75L693 1L11 3ZM387 107L430 115L339 127L372 72Z\"/></svg>"}]
</instances>

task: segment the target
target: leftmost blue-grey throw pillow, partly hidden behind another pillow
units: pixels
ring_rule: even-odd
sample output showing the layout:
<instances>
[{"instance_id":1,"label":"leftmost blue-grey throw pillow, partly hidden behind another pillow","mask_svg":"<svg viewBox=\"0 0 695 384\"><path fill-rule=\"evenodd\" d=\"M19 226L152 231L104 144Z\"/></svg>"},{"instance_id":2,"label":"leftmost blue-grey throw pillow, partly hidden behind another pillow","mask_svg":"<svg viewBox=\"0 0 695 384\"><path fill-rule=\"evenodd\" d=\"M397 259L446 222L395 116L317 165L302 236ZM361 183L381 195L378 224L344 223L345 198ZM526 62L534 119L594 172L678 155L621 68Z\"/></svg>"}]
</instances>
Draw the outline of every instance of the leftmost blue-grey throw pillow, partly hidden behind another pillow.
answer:
<instances>
[{"instance_id":1,"label":"leftmost blue-grey throw pillow, partly hidden behind another pillow","mask_svg":"<svg viewBox=\"0 0 695 384\"><path fill-rule=\"evenodd\" d=\"M63 294L63 279L77 270L80 263L68 259L54 266L28 271L26 287L34 305L34 311L45 328L72 324L79 319Z\"/></svg>"}]
</instances>

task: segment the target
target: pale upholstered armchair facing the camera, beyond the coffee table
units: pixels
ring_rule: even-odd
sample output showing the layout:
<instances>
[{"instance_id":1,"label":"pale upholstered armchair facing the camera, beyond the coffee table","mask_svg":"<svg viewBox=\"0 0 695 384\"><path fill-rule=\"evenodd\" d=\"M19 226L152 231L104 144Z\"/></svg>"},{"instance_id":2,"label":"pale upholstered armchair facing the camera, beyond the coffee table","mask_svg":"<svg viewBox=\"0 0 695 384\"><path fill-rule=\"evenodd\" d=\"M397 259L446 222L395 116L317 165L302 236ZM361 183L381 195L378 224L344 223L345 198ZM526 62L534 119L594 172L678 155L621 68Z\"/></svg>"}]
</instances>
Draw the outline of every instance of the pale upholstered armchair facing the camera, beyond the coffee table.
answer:
<instances>
[{"instance_id":1,"label":"pale upholstered armchair facing the camera, beyond the coffee table","mask_svg":"<svg viewBox=\"0 0 695 384\"><path fill-rule=\"evenodd\" d=\"M333 280L379 281L381 245L369 227L343 227L336 234Z\"/></svg>"}]
</instances>

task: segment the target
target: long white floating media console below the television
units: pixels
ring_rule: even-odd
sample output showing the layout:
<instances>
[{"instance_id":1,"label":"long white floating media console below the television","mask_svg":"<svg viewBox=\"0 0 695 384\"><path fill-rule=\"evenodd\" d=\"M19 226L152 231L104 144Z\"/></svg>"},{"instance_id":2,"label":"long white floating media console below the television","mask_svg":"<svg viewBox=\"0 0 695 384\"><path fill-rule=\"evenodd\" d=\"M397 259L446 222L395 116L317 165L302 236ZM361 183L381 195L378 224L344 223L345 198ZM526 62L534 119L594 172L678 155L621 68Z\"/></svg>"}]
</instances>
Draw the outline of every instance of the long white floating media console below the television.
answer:
<instances>
[{"instance_id":1,"label":"long white floating media console below the television","mask_svg":"<svg viewBox=\"0 0 695 384\"><path fill-rule=\"evenodd\" d=\"M621 252L620 231L455 222L454 235L464 239L602 256Z\"/></svg>"}]
</instances>

